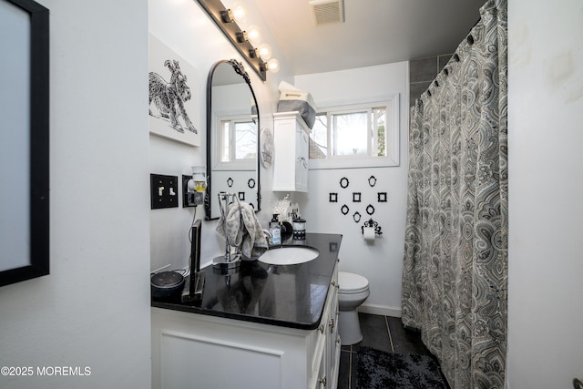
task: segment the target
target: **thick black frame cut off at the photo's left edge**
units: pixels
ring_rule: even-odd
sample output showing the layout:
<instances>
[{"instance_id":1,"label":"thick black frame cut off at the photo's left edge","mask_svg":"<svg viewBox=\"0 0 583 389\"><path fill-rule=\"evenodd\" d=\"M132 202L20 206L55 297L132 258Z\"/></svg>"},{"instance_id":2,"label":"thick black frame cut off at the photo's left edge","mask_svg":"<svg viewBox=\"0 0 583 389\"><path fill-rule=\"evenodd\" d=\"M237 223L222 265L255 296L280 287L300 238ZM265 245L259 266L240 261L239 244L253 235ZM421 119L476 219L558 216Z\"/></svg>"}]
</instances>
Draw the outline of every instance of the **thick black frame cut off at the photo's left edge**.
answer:
<instances>
[{"instance_id":1,"label":"thick black frame cut off at the photo's left edge","mask_svg":"<svg viewBox=\"0 0 583 389\"><path fill-rule=\"evenodd\" d=\"M0 0L15 5L29 16L29 64L28 69L29 116L27 128L9 128L11 131L28 131L28 145L23 149L29 155L29 199L28 212L23 218L29 220L28 259L23 266L9 268L1 266L0 286L22 282L49 273L49 10L32 0ZM5 8L7 9L7 8ZM19 32L15 32L15 35ZM20 33L21 34L21 33ZM12 35L10 35L12 36ZM26 71L26 70L25 70ZM26 87L23 85L23 87ZM0 204L0 212L10 204ZM15 254L18 255L18 254ZM0 255L2 261L11 263Z\"/></svg>"}]
</instances>

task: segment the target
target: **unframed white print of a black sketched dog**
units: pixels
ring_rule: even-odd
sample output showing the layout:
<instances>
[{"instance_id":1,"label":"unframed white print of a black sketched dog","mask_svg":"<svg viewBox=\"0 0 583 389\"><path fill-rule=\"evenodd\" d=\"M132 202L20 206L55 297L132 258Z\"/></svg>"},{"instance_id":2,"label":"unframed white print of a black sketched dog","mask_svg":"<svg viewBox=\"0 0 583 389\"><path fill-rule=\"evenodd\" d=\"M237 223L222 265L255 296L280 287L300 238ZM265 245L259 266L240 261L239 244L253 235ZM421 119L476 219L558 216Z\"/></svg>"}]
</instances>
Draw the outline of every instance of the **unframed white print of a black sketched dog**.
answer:
<instances>
[{"instance_id":1,"label":"unframed white print of a black sketched dog","mask_svg":"<svg viewBox=\"0 0 583 389\"><path fill-rule=\"evenodd\" d=\"M149 35L149 132L200 146L198 71Z\"/></svg>"}]
</instances>

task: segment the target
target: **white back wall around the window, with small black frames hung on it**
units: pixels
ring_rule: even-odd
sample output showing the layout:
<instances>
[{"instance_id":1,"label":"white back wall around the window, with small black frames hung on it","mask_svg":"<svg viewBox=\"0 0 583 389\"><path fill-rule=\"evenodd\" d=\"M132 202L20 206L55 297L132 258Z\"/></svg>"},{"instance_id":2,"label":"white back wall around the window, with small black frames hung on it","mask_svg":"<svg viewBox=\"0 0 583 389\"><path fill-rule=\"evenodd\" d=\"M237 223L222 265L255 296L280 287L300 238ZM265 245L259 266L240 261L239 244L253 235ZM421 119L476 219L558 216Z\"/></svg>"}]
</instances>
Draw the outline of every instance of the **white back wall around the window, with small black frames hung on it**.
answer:
<instances>
[{"instance_id":1,"label":"white back wall around the window, with small black frames hung on it","mask_svg":"<svg viewBox=\"0 0 583 389\"><path fill-rule=\"evenodd\" d=\"M295 77L296 87L309 90L316 104L399 94L401 166L310 170L310 192L294 197L307 220L306 230L343 234L340 270L362 274L370 283L371 295L363 310L396 316L401 314L407 200L408 75L408 63L399 62ZM373 188L368 184L372 175L377 179ZM343 177L350 182L346 189L340 186ZM353 191L362 193L361 203L353 203ZM377 193L383 191L388 202L379 203ZM330 192L338 193L339 202L329 202ZM350 208L345 216L340 210L344 203ZM366 213L369 203L374 207L372 216ZM360 223L353 220L356 210L362 215ZM383 238L363 241L361 226L371 217L382 227Z\"/></svg>"}]
</instances>

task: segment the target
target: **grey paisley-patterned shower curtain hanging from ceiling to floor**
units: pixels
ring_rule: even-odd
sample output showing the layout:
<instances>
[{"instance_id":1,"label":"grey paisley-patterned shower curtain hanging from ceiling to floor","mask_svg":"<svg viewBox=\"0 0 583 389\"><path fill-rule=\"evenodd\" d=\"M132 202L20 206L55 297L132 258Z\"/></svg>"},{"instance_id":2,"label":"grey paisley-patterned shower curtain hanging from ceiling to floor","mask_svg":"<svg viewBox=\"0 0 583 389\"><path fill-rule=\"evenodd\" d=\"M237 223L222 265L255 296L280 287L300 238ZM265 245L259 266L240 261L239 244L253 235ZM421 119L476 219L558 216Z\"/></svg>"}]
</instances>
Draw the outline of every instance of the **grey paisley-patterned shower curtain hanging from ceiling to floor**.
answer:
<instances>
[{"instance_id":1,"label":"grey paisley-patterned shower curtain hanging from ceiling to floor","mask_svg":"<svg viewBox=\"0 0 583 389\"><path fill-rule=\"evenodd\" d=\"M411 109L402 320L452 389L503 388L507 317L506 0Z\"/></svg>"}]
</instances>

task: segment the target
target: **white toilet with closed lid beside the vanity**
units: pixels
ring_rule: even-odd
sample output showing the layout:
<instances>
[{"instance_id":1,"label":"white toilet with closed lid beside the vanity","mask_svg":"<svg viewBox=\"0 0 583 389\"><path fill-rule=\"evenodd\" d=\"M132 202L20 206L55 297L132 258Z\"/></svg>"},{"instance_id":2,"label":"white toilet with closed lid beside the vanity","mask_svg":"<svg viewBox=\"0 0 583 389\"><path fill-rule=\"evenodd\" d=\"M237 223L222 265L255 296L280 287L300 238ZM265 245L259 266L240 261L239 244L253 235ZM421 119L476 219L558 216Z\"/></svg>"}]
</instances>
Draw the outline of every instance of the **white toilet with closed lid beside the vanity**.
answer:
<instances>
[{"instance_id":1,"label":"white toilet with closed lid beside the vanity","mask_svg":"<svg viewBox=\"0 0 583 389\"><path fill-rule=\"evenodd\" d=\"M338 272L338 309L340 319L338 333L342 345L359 343L363 340L361 324L356 309L370 294L368 280L362 275L351 272Z\"/></svg>"}]
</instances>

